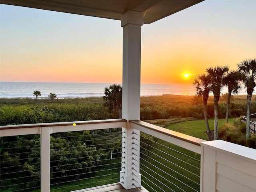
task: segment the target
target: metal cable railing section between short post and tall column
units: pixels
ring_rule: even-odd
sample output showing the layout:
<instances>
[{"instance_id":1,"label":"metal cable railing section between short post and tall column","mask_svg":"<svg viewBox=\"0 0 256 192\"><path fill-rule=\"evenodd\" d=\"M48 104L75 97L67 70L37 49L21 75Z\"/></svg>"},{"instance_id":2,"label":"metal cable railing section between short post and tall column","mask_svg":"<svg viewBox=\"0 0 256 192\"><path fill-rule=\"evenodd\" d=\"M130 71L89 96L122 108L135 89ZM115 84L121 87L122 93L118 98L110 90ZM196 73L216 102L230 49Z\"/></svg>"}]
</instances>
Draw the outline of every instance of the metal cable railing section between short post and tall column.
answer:
<instances>
[{"instance_id":1,"label":"metal cable railing section between short post and tall column","mask_svg":"<svg viewBox=\"0 0 256 192\"><path fill-rule=\"evenodd\" d=\"M50 189L73 191L119 182L121 131L51 135Z\"/></svg>"}]
</instances>

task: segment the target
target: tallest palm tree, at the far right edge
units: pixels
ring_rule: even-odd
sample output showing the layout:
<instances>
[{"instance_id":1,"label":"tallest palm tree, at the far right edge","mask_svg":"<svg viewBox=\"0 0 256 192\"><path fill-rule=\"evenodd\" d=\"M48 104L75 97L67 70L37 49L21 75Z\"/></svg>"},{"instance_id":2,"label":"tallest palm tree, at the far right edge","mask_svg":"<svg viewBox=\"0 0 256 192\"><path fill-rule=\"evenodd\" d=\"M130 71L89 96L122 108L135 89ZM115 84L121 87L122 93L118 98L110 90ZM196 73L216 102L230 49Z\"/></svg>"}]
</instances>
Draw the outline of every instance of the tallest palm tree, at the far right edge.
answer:
<instances>
[{"instance_id":1,"label":"tallest palm tree, at the far right edge","mask_svg":"<svg viewBox=\"0 0 256 192\"><path fill-rule=\"evenodd\" d=\"M244 88L247 91L247 111L246 111L246 139L250 137L250 104L252 99L252 93L256 86L256 59L243 60L237 64L238 69L242 75L242 81Z\"/></svg>"}]
</instances>

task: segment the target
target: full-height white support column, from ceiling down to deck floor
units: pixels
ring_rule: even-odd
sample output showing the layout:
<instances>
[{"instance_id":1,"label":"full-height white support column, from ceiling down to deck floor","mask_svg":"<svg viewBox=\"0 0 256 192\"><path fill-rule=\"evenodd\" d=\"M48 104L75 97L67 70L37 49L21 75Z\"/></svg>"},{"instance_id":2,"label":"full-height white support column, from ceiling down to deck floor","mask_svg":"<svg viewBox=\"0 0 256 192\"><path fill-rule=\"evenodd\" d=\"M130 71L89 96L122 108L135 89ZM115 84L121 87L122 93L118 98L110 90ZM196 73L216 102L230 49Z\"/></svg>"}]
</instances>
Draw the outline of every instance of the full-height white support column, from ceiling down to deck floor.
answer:
<instances>
[{"instance_id":1,"label":"full-height white support column, from ceiling down to deck floor","mask_svg":"<svg viewBox=\"0 0 256 192\"><path fill-rule=\"evenodd\" d=\"M134 130L129 120L140 120L140 60L141 12L128 10L122 15L123 27L123 83L122 118L127 120L122 128L122 170L120 182L126 189L141 186L140 131ZM137 145L136 145L137 144Z\"/></svg>"}]
</instances>

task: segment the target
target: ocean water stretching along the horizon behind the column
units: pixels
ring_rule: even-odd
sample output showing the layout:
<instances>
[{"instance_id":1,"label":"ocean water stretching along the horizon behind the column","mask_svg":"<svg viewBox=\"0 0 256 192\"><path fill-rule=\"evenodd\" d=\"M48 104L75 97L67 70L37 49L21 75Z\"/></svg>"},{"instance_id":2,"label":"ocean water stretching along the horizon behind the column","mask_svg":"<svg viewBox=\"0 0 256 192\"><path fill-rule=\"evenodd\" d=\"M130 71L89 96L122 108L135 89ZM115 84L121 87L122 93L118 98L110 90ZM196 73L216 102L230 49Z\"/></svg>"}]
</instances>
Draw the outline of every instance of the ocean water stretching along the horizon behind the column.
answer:
<instances>
[{"instance_id":1,"label":"ocean water stretching along the horizon behind the column","mask_svg":"<svg viewBox=\"0 0 256 192\"><path fill-rule=\"evenodd\" d=\"M38 90L48 98L55 93L57 98L87 98L104 96L105 87L110 83L50 83L50 82L0 82L0 98L35 98ZM224 89L222 93L226 93ZM163 94L195 95L192 84L141 84L140 96L160 96ZM240 94L246 94L243 90Z\"/></svg>"}]
</instances>

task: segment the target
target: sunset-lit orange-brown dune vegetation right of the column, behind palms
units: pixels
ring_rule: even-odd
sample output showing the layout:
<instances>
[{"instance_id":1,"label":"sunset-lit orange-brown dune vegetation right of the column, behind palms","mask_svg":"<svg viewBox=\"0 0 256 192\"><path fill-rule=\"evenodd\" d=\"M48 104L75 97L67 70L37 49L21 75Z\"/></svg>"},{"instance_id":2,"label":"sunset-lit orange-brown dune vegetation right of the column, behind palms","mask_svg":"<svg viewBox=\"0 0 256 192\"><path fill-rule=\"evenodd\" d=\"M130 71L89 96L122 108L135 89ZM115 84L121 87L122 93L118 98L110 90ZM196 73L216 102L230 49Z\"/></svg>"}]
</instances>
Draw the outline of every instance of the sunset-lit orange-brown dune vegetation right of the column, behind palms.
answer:
<instances>
[{"instance_id":1,"label":"sunset-lit orange-brown dune vegetation right of the column, behind palms","mask_svg":"<svg viewBox=\"0 0 256 192\"><path fill-rule=\"evenodd\" d=\"M218 118L226 117L226 95L220 98ZM251 113L256 112L256 102L251 103ZM208 118L214 118L213 97L210 96L207 105ZM235 118L246 114L246 96L234 96L230 103L229 117ZM163 95L158 97L142 97L141 120L168 118L204 118L202 99L196 96Z\"/></svg>"}]
</instances>

